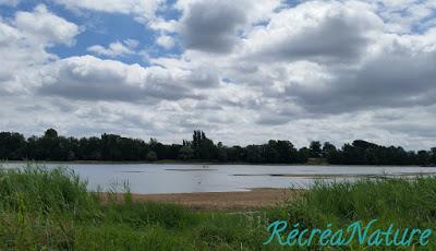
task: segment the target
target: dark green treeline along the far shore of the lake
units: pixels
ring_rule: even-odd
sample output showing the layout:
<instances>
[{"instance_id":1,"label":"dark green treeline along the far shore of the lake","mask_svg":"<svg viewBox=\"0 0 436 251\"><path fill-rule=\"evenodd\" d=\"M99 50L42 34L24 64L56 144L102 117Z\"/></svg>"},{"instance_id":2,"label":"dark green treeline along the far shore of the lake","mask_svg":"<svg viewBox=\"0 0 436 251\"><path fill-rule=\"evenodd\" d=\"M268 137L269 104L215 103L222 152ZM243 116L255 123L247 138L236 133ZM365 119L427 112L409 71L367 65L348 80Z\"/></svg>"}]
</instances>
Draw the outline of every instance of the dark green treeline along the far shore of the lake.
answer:
<instances>
[{"instance_id":1,"label":"dark green treeline along the far shore of the lake","mask_svg":"<svg viewBox=\"0 0 436 251\"><path fill-rule=\"evenodd\" d=\"M155 162L219 162L253 164L304 164L308 159L325 159L344 165L436 165L436 147L431 151L404 151L402 147L380 146L356 140L342 148L314 141L308 147L296 148L290 141L270 140L262 145L225 146L215 144L202 131L194 131L192 141L162 144L150 139L102 134L100 138L65 138L48 129L43 136L25 139L16 132L0 132L0 159L9 160L106 160Z\"/></svg>"}]
</instances>

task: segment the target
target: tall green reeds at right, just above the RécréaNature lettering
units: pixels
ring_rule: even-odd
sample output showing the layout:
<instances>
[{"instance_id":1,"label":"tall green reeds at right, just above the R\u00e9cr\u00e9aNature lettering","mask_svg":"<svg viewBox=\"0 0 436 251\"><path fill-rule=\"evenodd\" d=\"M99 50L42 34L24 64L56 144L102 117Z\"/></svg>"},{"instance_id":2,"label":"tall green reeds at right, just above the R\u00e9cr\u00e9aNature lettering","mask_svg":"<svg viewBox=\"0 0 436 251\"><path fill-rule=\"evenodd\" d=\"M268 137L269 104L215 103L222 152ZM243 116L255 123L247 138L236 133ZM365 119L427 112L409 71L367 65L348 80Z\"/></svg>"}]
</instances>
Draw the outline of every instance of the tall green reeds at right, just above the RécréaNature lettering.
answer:
<instances>
[{"instance_id":1,"label":"tall green reeds at right, just above the R\u00e9cr\u00e9aNature lettering","mask_svg":"<svg viewBox=\"0 0 436 251\"><path fill-rule=\"evenodd\" d=\"M419 177L363 179L355 182L316 182L299 200L281 208L269 211L269 220L289 219L301 228L347 229L354 222L364 225L377 219L373 229L396 228L435 229L436 226L436 178ZM427 247L414 249L436 250L435 236ZM346 249L360 250L358 242ZM366 248L368 249L368 248ZM409 247L371 247L371 250L410 250Z\"/></svg>"}]
</instances>

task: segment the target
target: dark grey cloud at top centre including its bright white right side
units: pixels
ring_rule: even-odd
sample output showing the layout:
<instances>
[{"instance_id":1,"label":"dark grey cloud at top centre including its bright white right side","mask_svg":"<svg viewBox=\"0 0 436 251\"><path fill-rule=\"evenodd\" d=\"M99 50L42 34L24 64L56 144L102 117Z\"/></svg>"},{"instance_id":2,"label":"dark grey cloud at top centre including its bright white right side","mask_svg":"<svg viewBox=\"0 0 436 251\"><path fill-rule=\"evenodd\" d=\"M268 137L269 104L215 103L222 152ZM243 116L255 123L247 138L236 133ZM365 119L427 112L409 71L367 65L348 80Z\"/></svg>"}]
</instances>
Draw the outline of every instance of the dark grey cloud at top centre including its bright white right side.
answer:
<instances>
[{"instance_id":1,"label":"dark grey cloud at top centre including its bright white right side","mask_svg":"<svg viewBox=\"0 0 436 251\"><path fill-rule=\"evenodd\" d=\"M178 3L183 15L180 34L183 45L214 53L231 52L240 41L239 32L246 24L267 20L279 1L184 0Z\"/></svg>"}]
</instances>

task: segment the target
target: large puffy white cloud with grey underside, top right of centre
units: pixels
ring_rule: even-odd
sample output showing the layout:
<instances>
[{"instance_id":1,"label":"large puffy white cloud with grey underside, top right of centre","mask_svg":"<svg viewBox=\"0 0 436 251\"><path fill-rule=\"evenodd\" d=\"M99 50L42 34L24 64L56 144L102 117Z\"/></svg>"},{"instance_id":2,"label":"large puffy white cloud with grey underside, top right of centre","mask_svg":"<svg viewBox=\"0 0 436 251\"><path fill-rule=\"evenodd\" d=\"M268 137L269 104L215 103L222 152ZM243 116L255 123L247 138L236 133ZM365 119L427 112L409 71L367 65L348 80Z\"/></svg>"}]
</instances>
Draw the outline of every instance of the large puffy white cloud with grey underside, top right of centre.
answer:
<instances>
[{"instance_id":1,"label":"large puffy white cloud with grey underside, top right of centre","mask_svg":"<svg viewBox=\"0 0 436 251\"><path fill-rule=\"evenodd\" d=\"M310 1L272 16L246 39L251 58L262 61L359 60L383 22L365 4Z\"/></svg>"}]
</instances>

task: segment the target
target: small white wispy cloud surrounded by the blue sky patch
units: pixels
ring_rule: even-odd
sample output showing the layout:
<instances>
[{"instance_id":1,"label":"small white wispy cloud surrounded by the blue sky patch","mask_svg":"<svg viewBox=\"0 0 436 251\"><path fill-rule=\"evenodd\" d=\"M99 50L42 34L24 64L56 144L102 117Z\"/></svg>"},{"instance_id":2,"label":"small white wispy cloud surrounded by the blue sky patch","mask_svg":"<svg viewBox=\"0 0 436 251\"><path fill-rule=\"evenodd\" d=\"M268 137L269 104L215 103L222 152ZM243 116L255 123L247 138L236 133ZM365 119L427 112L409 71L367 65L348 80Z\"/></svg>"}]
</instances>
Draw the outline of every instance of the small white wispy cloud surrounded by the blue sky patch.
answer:
<instances>
[{"instance_id":1,"label":"small white wispy cloud surrounded by the blue sky patch","mask_svg":"<svg viewBox=\"0 0 436 251\"><path fill-rule=\"evenodd\" d=\"M89 52L94 52L96 55L117 58L128 55L135 53L134 49L138 46L138 41L134 39L126 39L123 43L114 41L109 44L108 48L105 48L100 45L94 45L87 48Z\"/></svg>"}]
</instances>

